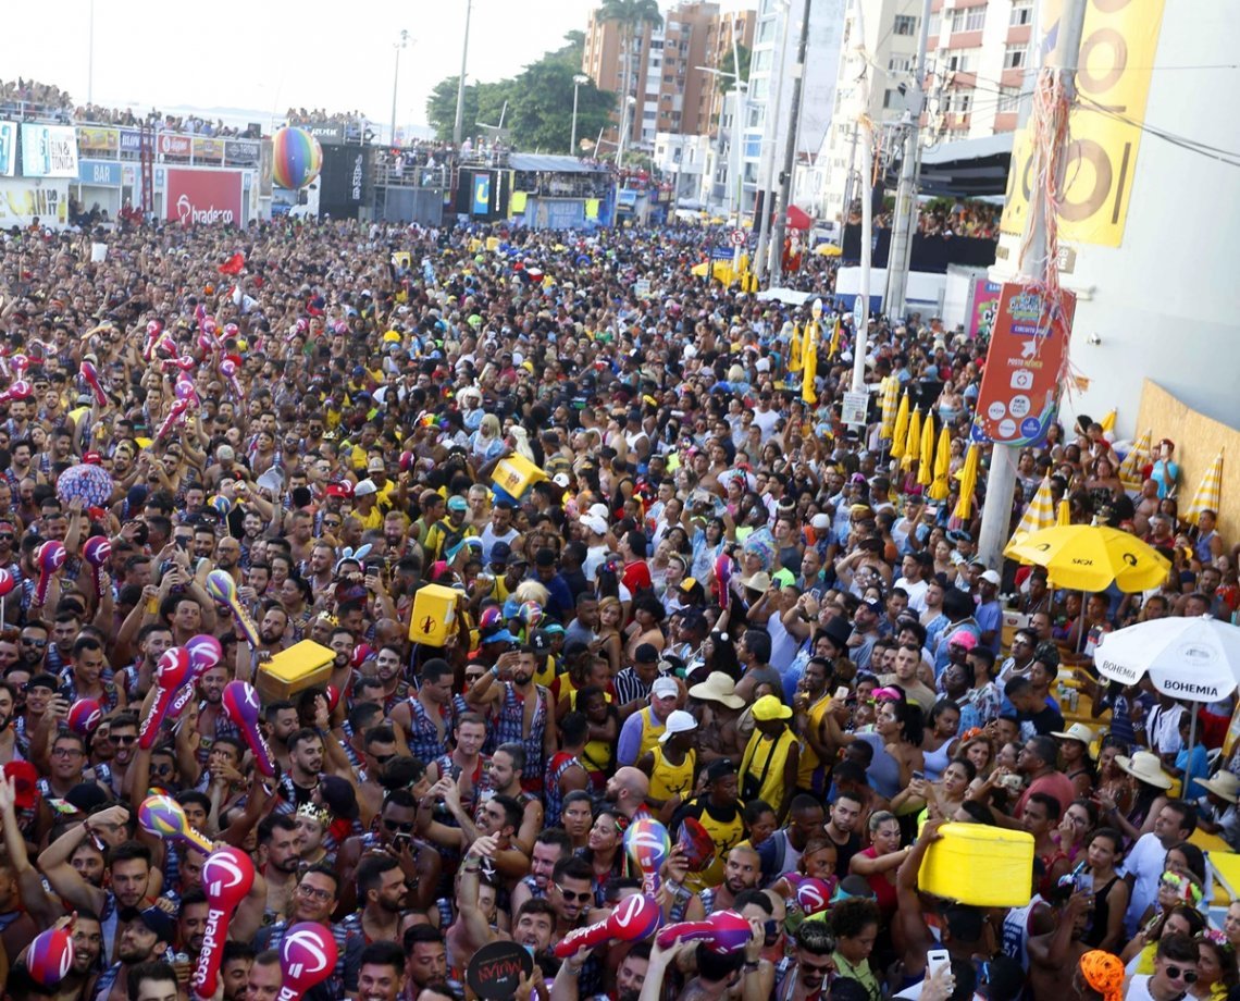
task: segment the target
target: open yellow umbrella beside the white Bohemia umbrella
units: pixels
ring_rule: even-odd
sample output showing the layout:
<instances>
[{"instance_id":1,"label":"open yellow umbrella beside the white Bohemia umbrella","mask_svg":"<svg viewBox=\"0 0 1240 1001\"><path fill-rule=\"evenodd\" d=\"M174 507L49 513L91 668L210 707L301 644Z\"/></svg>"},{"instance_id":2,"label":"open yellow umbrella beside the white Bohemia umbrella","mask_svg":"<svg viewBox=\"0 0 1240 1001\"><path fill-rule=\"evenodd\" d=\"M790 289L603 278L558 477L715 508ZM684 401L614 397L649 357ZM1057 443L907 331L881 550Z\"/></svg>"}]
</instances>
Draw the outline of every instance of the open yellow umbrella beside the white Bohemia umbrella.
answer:
<instances>
[{"instance_id":1,"label":"open yellow umbrella beside the white Bohemia umbrella","mask_svg":"<svg viewBox=\"0 0 1240 1001\"><path fill-rule=\"evenodd\" d=\"M1056 525L1013 540L1003 554L1045 567L1055 584L1070 590L1126 594L1161 587L1171 562L1130 532L1105 525Z\"/></svg>"}]
</instances>

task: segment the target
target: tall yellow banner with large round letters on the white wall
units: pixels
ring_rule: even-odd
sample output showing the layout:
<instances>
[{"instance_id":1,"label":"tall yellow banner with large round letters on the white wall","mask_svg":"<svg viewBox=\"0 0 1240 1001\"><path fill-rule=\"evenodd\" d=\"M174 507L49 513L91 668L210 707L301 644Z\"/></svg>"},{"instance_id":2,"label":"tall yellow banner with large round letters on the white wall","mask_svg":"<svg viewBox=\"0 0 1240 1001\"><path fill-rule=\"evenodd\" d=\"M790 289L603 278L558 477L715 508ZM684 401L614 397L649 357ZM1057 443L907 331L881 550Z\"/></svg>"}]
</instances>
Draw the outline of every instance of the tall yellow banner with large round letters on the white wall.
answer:
<instances>
[{"instance_id":1,"label":"tall yellow banner with large round letters on the white wall","mask_svg":"<svg viewBox=\"0 0 1240 1001\"><path fill-rule=\"evenodd\" d=\"M1099 247L1123 242L1163 5L1164 0L1089 0L1078 60L1078 99L1069 118L1071 143L1059 207L1060 239ZM1054 9L1060 4L1045 7L1050 31L1055 31L1059 17ZM1012 143L1001 225L1004 233L1024 232L1032 154L1033 139L1025 125Z\"/></svg>"}]
</instances>

